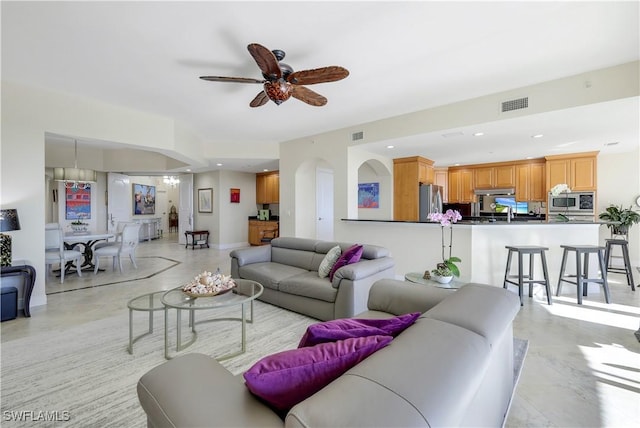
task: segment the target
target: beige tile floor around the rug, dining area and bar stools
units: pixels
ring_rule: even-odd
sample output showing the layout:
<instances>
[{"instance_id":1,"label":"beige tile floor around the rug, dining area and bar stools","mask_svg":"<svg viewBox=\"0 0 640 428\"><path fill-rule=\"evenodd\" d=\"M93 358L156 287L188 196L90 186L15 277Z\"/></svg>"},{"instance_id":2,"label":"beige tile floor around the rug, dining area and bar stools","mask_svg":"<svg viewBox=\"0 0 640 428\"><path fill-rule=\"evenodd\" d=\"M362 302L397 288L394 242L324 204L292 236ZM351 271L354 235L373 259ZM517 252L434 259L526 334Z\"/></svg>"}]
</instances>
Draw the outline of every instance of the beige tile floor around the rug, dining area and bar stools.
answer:
<instances>
[{"instance_id":1,"label":"beige tile floor around the rug, dining area and bar stools","mask_svg":"<svg viewBox=\"0 0 640 428\"><path fill-rule=\"evenodd\" d=\"M132 297L175 287L204 269L229 272L229 251L185 249L172 233L140 244L137 270L123 260L122 275L105 263L105 272L70 275L64 284L48 276L48 304L33 307L31 318L3 322L2 344L111 317L125 311ZM634 274L638 284L640 274ZM594 293L578 306L566 285L552 306L542 288L525 297L514 335L529 340L529 352L508 427L638 426L640 343L634 331L640 326L640 290L632 292L619 274L610 275L610 288L609 305Z\"/></svg>"}]
</instances>

